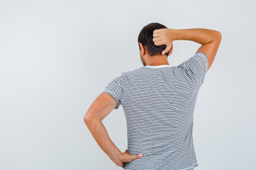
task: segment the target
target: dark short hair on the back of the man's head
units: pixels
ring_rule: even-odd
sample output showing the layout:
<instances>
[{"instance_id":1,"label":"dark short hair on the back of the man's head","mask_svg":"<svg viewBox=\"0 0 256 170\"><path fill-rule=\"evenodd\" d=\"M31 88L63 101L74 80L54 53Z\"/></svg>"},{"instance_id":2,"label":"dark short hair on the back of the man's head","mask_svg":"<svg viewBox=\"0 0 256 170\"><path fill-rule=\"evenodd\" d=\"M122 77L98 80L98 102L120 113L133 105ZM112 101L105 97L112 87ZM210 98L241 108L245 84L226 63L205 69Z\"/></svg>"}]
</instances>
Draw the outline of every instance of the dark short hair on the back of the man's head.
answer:
<instances>
[{"instance_id":1,"label":"dark short hair on the back of the man's head","mask_svg":"<svg viewBox=\"0 0 256 170\"><path fill-rule=\"evenodd\" d=\"M146 46L149 56L161 55L162 51L164 51L164 49L166 48L166 45L155 46L153 42L153 31L155 29L162 29L162 28L167 28L167 27L159 23L150 23L144 26L139 33L138 42L141 42L141 44Z\"/></svg>"}]
</instances>

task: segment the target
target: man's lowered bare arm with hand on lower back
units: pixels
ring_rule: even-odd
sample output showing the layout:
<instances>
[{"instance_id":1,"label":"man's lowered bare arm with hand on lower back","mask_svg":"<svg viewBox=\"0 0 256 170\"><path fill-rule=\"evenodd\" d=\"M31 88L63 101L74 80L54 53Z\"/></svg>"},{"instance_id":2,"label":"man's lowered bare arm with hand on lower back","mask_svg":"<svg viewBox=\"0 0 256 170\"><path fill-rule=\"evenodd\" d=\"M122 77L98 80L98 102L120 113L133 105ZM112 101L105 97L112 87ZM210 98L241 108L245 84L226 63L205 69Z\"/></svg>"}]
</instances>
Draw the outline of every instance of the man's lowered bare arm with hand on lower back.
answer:
<instances>
[{"instance_id":1,"label":"man's lowered bare arm with hand on lower back","mask_svg":"<svg viewBox=\"0 0 256 170\"><path fill-rule=\"evenodd\" d=\"M101 149L117 165L124 168L125 162L142 157L130 155L128 150L121 152L108 136L102 120L117 106L117 102L107 93L101 93L92 103L84 116L84 121Z\"/></svg>"}]
</instances>

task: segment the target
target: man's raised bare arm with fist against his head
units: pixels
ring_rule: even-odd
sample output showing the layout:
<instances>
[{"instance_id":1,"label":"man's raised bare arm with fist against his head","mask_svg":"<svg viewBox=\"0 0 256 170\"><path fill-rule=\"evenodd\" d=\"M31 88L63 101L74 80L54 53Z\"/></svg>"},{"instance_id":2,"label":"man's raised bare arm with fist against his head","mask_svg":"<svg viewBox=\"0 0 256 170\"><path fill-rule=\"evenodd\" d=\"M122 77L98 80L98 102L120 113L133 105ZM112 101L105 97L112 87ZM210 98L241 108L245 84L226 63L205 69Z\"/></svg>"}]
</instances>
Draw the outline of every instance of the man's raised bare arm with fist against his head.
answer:
<instances>
[{"instance_id":1,"label":"man's raised bare arm with fist against his head","mask_svg":"<svg viewBox=\"0 0 256 170\"><path fill-rule=\"evenodd\" d=\"M153 32L155 45L166 45L162 54L170 51L174 40L190 40L201 44L196 52L202 52L207 56L208 71L218 51L221 34L210 29L156 29Z\"/></svg>"}]
</instances>

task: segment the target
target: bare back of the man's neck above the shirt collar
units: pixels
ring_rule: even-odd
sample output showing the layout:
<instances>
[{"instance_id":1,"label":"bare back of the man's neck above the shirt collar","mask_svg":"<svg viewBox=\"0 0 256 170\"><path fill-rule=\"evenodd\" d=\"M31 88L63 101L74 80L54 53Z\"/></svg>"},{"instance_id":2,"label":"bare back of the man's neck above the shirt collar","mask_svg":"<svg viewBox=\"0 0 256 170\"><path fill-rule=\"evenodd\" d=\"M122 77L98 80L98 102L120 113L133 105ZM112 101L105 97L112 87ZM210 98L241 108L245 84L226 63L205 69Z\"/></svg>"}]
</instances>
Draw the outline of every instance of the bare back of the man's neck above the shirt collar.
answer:
<instances>
[{"instance_id":1,"label":"bare back of the man's neck above the shirt collar","mask_svg":"<svg viewBox=\"0 0 256 170\"><path fill-rule=\"evenodd\" d=\"M146 65L148 66L159 66L159 65L169 65L166 55L153 55L145 56Z\"/></svg>"}]
</instances>

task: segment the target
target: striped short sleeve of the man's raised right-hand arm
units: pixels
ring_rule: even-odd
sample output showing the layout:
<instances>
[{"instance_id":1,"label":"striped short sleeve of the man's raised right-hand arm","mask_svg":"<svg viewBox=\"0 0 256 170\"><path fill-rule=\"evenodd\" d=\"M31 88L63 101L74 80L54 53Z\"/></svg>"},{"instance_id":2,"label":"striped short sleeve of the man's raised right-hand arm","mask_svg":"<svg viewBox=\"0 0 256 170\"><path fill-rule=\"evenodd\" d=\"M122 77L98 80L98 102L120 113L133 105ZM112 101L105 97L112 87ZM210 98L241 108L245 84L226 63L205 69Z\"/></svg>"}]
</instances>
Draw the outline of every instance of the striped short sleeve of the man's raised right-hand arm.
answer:
<instances>
[{"instance_id":1,"label":"striped short sleeve of the man's raised right-hand arm","mask_svg":"<svg viewBox=\"0 0 256 170\"><path fill-rule=\"evenodd\" d=\"M195 53L193 57L186 60L178 67L184 67L189 75L192 75L198 86L200 87L204 81L204 76L207 72L208 59L204 53Z\"/></svg>"}]
</instances>

